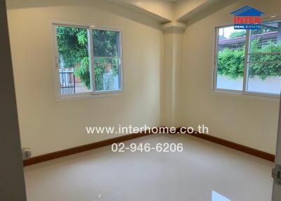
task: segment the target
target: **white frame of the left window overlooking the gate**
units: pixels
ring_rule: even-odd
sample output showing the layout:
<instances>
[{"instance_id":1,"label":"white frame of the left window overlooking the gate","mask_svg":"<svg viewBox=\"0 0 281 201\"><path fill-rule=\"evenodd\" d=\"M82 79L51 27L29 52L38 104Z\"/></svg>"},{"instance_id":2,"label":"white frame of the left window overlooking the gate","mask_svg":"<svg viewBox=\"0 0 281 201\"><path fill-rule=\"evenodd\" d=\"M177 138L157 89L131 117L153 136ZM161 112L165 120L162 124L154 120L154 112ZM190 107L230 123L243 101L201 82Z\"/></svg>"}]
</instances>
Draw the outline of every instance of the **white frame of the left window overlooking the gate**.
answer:
<instances>
[{"instance_id":1,"label":"white frame of the left window overlooking the gate","mask_svg":"<svg viewBox=\"0 0 281 201\"><path fill-rule=\"evenodd\" d=\"M84 93L72 93L62 95L60 93L60 74L58 73L58 41L56 36L56 27L57 26L66 26L66 27L78 27L84 28L88 31L88 44L89 44L89 70L90 70L90 82L91 82L91 91ZM107 28L102 26L97 26L93 24L81 24L81 23L72 23L72 22L52 22L53 29L53 46L54 46L54 74L55 74L55 99L57 101L63 100L79 100L84 98L103 98L109 96L118 96L124 94L124 73L123 73L123 51L122 51L122 29L119 28ZM105 90L105 91L96 91L95 90L95 72L94 72L94 56L93 56L93 30L108 30L119 32L119 90ZM115 57L108 57L115 58Z\"/></svg>"}]
</instances>

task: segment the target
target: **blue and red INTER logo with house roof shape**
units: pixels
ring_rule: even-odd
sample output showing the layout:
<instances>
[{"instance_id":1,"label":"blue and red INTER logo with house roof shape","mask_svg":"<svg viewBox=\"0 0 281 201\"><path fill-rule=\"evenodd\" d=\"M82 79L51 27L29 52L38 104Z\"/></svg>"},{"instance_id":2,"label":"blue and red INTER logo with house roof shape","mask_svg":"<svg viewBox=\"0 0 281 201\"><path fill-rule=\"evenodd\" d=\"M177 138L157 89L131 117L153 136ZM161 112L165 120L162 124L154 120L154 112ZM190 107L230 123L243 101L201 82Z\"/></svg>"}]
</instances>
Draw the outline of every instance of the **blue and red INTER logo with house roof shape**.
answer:
<instances>
[{"instance_id":1,"label":"blue and red INTER logo with house roof shape","mask_svg":"<svg viewBox=\"0 0 281 201\"><path fill-rule=\"evenodd\" d=\"M261 29L261 15L263 12L244 6L237 11L232 12L234 17L235 30L260 30Z\"/></svg>"}]
</instances>

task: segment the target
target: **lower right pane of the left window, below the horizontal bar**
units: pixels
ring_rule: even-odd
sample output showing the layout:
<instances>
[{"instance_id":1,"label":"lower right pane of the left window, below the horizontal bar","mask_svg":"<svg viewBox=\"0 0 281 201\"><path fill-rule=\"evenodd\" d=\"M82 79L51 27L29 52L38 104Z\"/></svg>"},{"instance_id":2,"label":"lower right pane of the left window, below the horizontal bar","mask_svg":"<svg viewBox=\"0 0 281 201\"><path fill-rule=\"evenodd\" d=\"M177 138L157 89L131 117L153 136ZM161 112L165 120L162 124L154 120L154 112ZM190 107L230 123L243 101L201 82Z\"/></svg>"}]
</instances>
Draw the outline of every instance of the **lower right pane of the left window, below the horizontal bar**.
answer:
<instances>
[{"instance_id":1,"label":"lower right pane of the left window, below the horizontal bar","mask_svg":"<svg viewBox=\"0 0 281 201\"><path fill-rule=\"evenodd\" d=\"M120 90L119 58L95 58L96 91Z\"/></svg>"}]
</instances>

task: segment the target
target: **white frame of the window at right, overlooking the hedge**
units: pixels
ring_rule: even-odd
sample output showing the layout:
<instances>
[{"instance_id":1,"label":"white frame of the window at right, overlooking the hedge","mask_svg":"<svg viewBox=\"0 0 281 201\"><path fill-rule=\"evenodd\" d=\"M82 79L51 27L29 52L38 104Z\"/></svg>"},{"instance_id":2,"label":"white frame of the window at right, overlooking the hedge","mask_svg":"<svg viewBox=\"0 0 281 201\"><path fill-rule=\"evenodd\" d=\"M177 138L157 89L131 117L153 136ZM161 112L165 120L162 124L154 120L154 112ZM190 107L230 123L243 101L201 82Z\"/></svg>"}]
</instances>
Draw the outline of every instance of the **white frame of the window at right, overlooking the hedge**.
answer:
<instances>
[{"instance_id":1,"label":"white frame of the window at right, overlooking the hedge","mask_svg":"<svg viewBox=\"0 0 281 201\"><path fill-rule=\"evenodd\" d=\"M274 19L274 20L281 20L281 19ZM263 22L270 22L274 20L265 20ZM232 24L233 25L233 24ZM248 95L248 96L263 96L263 97L269 97L269 98L280 98L280 94L275 93L262 93L262 92L253 92L253 91L247 91L247 84L249 79L249 56L251 53L249 52L249 44L250 44L250 34L251 31L247 30L246 34L246 41L245 41L245 60L244 60L244 74L243 74L243 88L242 91L240 90L233 90L233 89L218 89L217 86L217 67L218 67L218 41L219 41L219 29L224 27L230 27L232 25L225 25L225 26L218 26L215 27L215 48L214 48L214 70L213 70L213 84L212 84L212 90L214 92L222 92L222 93L235 93L240 95Z\"/></svg>"}]
</instances>

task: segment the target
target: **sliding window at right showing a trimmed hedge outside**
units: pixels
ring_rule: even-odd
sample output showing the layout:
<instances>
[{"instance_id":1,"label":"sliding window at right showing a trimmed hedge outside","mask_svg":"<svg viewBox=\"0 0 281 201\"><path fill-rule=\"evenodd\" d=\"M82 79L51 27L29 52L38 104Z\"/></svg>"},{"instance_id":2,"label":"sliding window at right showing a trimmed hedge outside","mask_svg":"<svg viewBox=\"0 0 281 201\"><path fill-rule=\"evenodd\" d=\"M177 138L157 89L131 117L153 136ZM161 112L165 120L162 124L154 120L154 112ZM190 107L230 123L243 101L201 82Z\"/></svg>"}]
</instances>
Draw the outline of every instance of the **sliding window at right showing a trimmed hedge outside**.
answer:
<instances>
[{"instance_id":1,"label":"sliding window at right showing a trimmed hedge outside","mask_svg":"<svg viewBox=\"0 0 281 201\"><path fill-rule=\"evenodd\" d=\"M214 90L278 96L281 90L281 20L261 30L216 28Z\"/></svg>"}]
</instances>

